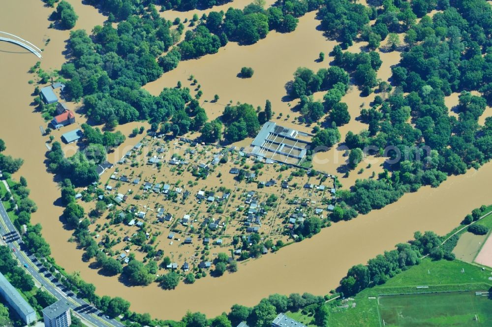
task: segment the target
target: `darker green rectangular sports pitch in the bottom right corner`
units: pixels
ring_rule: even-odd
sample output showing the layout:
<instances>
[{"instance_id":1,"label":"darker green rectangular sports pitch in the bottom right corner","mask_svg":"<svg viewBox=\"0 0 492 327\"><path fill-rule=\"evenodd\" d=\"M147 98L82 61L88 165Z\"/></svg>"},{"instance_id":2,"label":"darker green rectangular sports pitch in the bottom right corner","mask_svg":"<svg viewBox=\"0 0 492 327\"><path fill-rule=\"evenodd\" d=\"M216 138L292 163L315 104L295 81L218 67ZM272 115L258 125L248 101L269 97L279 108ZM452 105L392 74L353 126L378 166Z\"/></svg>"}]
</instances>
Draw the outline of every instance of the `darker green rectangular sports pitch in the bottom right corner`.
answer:
<instances>
[{"instance_id":1,"label":"darker green rectangular sports pitch in the bottom right corner","mask_svg":"<svg viewBox=\"0 0 492 327\"><path fill-rule=\"evenodd\" d=\"M475 292L385 295L381 326L492 326L492 300Z\"/></svg>"}]
</instances>

